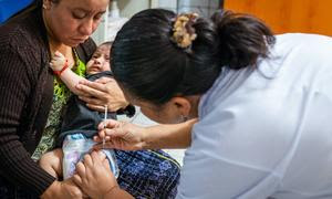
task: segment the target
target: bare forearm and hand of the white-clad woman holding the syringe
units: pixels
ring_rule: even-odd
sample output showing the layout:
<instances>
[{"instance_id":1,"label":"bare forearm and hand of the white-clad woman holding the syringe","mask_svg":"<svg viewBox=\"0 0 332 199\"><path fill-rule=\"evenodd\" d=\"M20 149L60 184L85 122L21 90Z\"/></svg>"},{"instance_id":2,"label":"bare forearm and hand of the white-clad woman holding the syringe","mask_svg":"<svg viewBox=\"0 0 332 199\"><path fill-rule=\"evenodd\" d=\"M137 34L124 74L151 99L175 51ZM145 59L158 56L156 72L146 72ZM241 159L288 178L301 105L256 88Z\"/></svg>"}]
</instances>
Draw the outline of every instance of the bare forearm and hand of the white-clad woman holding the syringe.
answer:
<instances>
[{"instance_id":1,"label":"bare forearm and hand of the white-clad woman holding the syringe","mask_svg":"<svg viewBox=\"0 0 332 199\"><path fill-rule=\"evenodd\" d=\"M95 148L116 148L123 150L186 148L191 143L191 128L197 119L173 125L141 127L134 124L108 119L100 124ZM104 128L106 126L106 128Z\"/></svg>"}]
</instances>

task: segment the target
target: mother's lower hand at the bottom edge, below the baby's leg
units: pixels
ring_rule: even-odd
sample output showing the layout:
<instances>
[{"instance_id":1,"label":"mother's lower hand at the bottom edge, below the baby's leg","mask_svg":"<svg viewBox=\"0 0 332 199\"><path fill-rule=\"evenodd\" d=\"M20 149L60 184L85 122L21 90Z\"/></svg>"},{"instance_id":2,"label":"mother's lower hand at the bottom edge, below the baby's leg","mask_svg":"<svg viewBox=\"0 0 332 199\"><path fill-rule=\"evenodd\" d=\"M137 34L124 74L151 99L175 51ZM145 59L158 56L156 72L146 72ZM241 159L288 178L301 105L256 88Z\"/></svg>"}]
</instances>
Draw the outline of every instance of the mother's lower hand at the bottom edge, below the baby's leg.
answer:
<instances>
[{"instance_id":1,"label":"mother's lower hand at the bottom edge, below the baby's leg","mask_svg":"<svg viewBox=\"0 0 332 199\"><path fill-rule=\"evenodd\" d=\"M54 181L40 197L41 199L82 199L86 198L82 190L74 184L73 178L64 181Z\"/></svg>"}]
</instances>

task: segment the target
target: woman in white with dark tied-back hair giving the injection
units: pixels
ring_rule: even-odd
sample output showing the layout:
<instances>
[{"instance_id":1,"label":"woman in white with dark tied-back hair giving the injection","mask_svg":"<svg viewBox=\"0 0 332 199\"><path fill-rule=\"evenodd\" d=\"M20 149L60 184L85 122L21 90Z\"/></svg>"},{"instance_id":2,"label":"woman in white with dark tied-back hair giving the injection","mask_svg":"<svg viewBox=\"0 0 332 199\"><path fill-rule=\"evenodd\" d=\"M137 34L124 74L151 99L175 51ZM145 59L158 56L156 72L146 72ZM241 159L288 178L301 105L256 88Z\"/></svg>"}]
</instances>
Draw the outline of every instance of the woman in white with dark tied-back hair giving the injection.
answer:
<instances>
[{"instance_id":1,"label":"woman in white with dark tied-back hair giving the injection","mask_svg":"<svg viewBox=\"0 0 332 199\"><path fill-rule=\"evenodd\" d=\"M207 20L152 9L123 27L112 50L116 81L145 115L198 117L148 128L108 121L96 138L122 149L189 147L177 198L332 197L331 38L274 36L231 12ZM96 154L83 163L74 180L89 195L129 198L97 172ZM102 181L113 188L87 188Z\"/></svg>"}]
</instances>

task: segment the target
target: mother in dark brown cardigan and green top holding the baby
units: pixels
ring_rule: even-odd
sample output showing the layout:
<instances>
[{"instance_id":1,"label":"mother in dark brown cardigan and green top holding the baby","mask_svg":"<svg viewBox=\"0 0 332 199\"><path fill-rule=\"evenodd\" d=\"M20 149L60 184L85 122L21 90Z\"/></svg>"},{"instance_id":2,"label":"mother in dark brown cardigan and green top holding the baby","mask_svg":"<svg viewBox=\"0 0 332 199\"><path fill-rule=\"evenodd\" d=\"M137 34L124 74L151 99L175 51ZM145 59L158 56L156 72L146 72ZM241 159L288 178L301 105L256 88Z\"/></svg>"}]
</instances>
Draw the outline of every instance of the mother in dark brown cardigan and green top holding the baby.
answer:
<instances>
[{"instance_id":1,"label":"mother in dark brown cardigan and green top holding the baby","mask_svg":"<svg viewBox=\"0 0 332 199\"><path fill-rule=\"evenodd\" d=\"M61 112L71 95L50 70L52 55L55 51L61 52L69 60L69 66L84 75L85 63L95 51L90 35L97 28L107 4L108 0L35 1L0 28L0 198L83 197L71 178L56 180L41 169L31 155L34 153L34 157L39 157L52 147L54 135L61 127ZM114 81L101 80L94 88L97 92L81 97L89 107L103 111L107 104L110 111L116 111L127 106ZM139 153L134 155L141 157ZM135 159L134 155L129 157ZM123 161L134 163L131 160ZM133 165L126 166L132 168ZM174 190L178 167L173 165L168 170L175 171L173 187L169 186ZM127 178L122 178L120 184L132 190L136 179L131 172L124 174Z\"/></svg>"}]
</instances>

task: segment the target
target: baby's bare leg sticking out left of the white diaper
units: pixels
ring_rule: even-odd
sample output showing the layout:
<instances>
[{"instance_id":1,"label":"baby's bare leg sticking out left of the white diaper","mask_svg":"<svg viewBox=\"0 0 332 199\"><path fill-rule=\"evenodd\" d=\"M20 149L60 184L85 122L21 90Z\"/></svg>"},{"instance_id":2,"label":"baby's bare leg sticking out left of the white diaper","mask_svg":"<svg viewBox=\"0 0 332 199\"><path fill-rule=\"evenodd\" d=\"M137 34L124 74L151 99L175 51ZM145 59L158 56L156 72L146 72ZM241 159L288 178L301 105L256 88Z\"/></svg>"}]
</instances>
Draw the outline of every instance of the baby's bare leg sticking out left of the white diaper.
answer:
<instances>
[{"instance_id":1,"label":"baby's bare leg sticking out left of the white diaper","mask_svg":"<svg viewBox=\"0 0 332 199\"><path fill-rule=\"evenodd\" d=\"M62 178L62 149L58 148L44 154L40 158L39 165L50 175L54 176L56 179L60 179Z\"/></svg>"}]
</instances>

